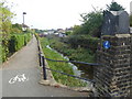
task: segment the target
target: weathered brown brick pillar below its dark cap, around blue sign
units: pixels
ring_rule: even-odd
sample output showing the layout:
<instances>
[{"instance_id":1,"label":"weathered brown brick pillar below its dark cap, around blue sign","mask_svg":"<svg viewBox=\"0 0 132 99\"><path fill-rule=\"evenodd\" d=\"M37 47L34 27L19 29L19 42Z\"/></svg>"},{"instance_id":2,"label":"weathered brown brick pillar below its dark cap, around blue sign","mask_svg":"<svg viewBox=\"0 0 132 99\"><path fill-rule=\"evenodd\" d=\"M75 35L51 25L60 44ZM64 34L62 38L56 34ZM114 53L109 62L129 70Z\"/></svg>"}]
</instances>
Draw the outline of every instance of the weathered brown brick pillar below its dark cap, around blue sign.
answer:
<instances>
[{"instance_id":1,"label":"weathered brown brick pillar below its dark cap, around blue sign","mask_svg":"<svg viewBox=\"0 0 132 99\"><path fill-rule=\"evenodd\" d=\"M102 46L110 42L110 48ZM102 97L129 97L131 87L132 36L130 34L103 35L97 51L95 67L96 90Z\"/></svg>"}]
</instances>

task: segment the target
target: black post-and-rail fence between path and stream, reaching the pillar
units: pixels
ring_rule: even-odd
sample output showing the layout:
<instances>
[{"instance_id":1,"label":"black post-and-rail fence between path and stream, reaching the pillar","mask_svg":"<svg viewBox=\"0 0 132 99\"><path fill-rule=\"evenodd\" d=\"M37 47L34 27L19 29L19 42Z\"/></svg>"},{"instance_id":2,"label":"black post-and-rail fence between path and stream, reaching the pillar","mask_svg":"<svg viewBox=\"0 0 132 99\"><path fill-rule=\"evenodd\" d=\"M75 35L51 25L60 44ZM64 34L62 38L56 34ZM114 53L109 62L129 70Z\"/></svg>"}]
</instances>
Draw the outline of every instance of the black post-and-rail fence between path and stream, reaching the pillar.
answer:
<instances>
[{"instance_id":1,"label":"black post-and-rail fence between path and stream, reaching the pillar","mask_svg":"<svg viewBox=\"0 0 132 99\"><path fill-rule=\"evenodd\" d=\"M81 77L78 77L78 76L75 76L75 75L69 75L69 74L66 74L66 73L62 73L59 70L47 68L45 66L45 61L63 62L63 63L79 63L79 64L86 64L86 65L89 65L89 66L99 66L100 64L97 64L97 63L85 63L85 62L75 62L75 61L55 61L55 59L46 58L46 57L44 57L44 54L43 54L43 51L42 51L42 47L41 47L41 44L40 44L40 41L38 41L37 37L36 37L36 40L37 40L37 47L38 47L38 61L40 61L40 66L43 67L43 78L44 78L44 80L47 79L47 77L46 77L46 69L48 69L48 70L52 70L52 72L59 73L62 75L67 75L67 76L75 77L75 78L78 78L78 79L82 79L82 80L86 80L86 81L95 82L94 79L86 79L86 78L81 78Z\"/></svg>"}]
</instances>

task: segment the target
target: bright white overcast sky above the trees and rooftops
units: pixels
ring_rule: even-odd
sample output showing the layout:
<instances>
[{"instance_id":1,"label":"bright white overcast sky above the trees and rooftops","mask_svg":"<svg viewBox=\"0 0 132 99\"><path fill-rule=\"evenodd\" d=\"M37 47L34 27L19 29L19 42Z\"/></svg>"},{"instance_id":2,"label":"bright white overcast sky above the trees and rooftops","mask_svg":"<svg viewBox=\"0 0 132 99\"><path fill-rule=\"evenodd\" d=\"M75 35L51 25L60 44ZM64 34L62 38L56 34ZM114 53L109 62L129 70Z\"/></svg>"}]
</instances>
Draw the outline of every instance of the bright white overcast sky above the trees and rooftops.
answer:
<instances>
[{"instance_id":1,"label":"bright white overcast sky above the trees and rooftops","mask_svg":"<svg viewBox=\"0 0 132 99\"><path fill-rule=\"evenodd\" d=\"M81 24L81 13L96 9L106 9L112 0L7 0L16 15L13 23L23 23L31 29L65 29ZM114 0L130 12L132 0ZM13 2L13 4L12 4Z\"/></svg>"}]
</instances>

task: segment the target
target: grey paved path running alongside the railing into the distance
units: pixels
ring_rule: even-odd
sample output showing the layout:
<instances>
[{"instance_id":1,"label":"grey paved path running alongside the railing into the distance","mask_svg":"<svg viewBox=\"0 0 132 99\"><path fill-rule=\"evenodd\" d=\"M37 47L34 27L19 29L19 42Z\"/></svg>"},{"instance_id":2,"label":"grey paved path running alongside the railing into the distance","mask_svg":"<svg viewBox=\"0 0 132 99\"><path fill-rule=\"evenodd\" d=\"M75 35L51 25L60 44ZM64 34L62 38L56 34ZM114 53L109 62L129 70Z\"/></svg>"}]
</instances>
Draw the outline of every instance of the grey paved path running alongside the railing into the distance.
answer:
<instances>
[{"instance_id":1,"label":"grey paved path running alongside the railing into the distance","mask_svg":"<svg viewBox=\"0 0 132 99\"><path fill-rule=\"evenodd\" d=\"M24 75L23 75L24 74ZM16 78L18 75L18 78ZM12 77L15 77L11 80ZM20 79L23 78L23 79ZM15 81L16 80L16 81ZM87 94L40 85L35 37L2 65L2 97L87 97Z\"/></svg>"}]
</instances>

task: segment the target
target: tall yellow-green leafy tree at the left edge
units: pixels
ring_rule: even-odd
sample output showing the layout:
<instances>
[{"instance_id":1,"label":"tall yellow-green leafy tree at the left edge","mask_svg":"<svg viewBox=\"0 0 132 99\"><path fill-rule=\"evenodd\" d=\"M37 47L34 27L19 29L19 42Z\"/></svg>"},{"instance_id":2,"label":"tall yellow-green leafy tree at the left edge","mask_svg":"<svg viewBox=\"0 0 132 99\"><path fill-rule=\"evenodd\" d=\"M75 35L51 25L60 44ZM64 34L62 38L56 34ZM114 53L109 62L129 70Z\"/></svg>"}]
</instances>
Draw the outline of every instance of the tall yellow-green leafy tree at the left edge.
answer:
<instances>
[{"instance_id":1,"label":"tall yellow-green leafy tree at the left edge","mask_svg":"<svg viewBox=\"0 0 132 99\"><path fill-rule=\"evenodd\" d=\"M6 6L6 1L0 1L0 44L2 45L2 61L6 59L9 53L9 38L11 33L11 19L13 13ZM1 36L2 35L2 36Z\"/></svg>"}]
</instances>

